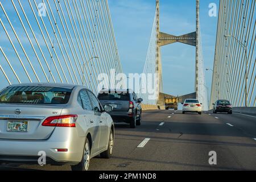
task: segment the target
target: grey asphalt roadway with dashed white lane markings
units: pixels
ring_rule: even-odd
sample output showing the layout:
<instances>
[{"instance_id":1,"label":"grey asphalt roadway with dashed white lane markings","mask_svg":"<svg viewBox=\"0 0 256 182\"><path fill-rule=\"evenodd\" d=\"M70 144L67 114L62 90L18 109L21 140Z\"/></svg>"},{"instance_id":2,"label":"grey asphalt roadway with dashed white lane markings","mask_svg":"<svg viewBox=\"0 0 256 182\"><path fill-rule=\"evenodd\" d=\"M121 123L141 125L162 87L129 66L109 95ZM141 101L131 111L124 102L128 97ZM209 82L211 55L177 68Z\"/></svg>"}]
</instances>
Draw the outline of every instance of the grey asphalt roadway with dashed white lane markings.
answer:
<instances>
[{"instance_id":1,"label":"grey asphalt roadway with dashed white lane markings","mask_svg":"<svg viewBox=\"0 0 256 182\"><path fill-rule=\"evenodd\" d=\"M136 129L117 123L112 159L93 158L90 170L256 170L256 116L155 110L145 111L142 120ZM217 154L216 165L209 164L210 151ZM8 164L0 169L71 168Z\"/></svg>"}]
</instances>

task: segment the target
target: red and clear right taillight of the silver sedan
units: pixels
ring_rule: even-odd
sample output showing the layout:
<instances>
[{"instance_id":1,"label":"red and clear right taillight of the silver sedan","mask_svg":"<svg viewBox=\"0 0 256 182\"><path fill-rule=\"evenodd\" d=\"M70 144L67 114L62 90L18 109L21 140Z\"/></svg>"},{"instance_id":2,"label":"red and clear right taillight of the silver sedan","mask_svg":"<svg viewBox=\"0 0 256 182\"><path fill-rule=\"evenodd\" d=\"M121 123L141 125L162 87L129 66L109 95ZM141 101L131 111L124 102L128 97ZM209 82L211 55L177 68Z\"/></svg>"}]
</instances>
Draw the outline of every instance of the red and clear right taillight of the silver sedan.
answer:
<instances>
[{"instance_id":1,"label":"red and clear right taillight of the silver sedan","mask_svg":"<svg viewBox=\"0 0 256 182\"><path fill-rule=\"evenodd\" d=\"M42 123L42 126L55 126L55 127L76 127L76 114L69 115L58 115L53 117L48 117Z\"/></svg>"}]
</instances>

